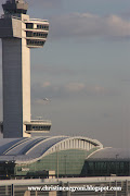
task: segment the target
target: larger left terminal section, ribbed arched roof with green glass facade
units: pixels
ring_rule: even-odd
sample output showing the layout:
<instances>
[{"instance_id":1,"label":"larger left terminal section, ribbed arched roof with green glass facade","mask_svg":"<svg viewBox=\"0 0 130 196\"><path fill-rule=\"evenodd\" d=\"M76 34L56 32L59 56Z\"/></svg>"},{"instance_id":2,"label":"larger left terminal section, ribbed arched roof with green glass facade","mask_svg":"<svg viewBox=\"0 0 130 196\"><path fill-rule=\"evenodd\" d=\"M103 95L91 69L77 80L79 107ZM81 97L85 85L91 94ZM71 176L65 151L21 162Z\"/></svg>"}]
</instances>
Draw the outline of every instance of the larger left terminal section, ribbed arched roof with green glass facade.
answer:
<instances>
[{"instance_id":1,"label":"larger left terminal section, ribbed arched roof with green glass facade","mask_svg":"<svg viewBox=\"0 0 130 196\"><path fill-rule=\"evenodd\" d=\"M54 171L60 176L79 176L87 156L103 148L88 137L30 137L0 139L0 175L43 175Z\"/></svg>"}]
</instances>

